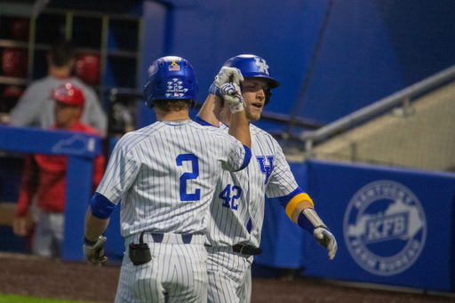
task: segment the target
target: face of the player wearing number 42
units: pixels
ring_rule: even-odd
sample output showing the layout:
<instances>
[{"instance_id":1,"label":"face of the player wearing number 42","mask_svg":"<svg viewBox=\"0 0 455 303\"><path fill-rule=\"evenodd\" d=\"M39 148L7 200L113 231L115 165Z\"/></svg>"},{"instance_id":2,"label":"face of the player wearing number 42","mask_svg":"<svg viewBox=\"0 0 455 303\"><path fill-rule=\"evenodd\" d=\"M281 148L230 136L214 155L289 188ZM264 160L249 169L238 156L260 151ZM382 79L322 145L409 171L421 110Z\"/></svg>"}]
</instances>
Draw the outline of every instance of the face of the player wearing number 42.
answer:
<instances>
[{"instance_id":1,"label":"face of the player wearing number 42","mask_svg":"<svg viewBox=\"0 0 455 303\"><path fill-rule=\"evenodd\" d=\"M267 81L263 79L245 79L242 82L242 96L245 101L246 118L258 121L266 102Z\"/></svg>"}]
</instances>

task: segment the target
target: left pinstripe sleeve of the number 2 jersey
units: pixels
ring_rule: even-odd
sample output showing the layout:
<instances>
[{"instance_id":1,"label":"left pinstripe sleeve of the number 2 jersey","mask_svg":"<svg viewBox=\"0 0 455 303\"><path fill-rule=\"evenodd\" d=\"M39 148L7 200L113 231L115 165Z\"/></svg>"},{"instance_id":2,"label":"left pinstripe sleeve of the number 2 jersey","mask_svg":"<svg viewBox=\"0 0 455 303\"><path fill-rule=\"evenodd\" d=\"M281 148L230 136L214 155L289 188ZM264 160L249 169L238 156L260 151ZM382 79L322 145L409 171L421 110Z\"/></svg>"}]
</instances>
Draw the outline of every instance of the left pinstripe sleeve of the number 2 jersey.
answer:
<instances>
[{"instance_id":1,"label":"left pinstripe sleeve of the number 2 jersey","mask_svg":"<svg viewBox=\"0 0 455 303\"><path fill-rule=\"evenodd\" d=\"M108 167L96 192L117 204L132 186L140 171L140 160L133 148L125 145L125 137L119 140L110 156Z\"/></svg>"}]
</instances>

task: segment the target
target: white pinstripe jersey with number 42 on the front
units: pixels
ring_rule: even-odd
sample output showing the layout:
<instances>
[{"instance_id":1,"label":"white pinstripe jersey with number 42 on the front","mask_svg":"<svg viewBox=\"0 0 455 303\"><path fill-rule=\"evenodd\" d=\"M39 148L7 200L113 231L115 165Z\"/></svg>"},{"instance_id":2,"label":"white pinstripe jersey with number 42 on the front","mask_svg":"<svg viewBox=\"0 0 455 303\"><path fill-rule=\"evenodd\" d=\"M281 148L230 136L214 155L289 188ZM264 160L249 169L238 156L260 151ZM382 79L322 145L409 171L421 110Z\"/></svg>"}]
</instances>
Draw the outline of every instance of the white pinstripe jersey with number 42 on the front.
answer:
<instances>
[{"instance_id":1,"label":"white pinstripe jersey with number 42 on the front","mask_svg":"<svg viewBox=\"0 0 455 303\"><path fill-rule=\"evenodd\" d=\"M220 129L228 132L226 124L220 123ZM212 246L249 243L259 247L266 195L289 195L298 187L278 142L255 125L250 125L250 132L250 164L243 171L222 171L213 195L208 235Z\"/></svg>"}]
</instances>

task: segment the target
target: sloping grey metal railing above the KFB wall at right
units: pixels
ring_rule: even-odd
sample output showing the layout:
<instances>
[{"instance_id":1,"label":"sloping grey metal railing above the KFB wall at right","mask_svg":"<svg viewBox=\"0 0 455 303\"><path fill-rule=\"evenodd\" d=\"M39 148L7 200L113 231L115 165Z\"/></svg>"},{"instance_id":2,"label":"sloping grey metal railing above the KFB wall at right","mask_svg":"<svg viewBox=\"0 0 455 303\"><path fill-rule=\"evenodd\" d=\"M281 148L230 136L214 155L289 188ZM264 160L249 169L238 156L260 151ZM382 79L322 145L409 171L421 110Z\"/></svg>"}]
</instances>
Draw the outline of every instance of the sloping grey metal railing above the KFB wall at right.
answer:
<instances>
[{"instance_id":1,"label":"sloping grey metal railing above the KFB wall at right","mask_svg":"<svg viewBox=\"0 0 455 303\"><path fill-rule=\"evenodd\" d=\"M354 126L367 122L371 117L379 116L399 106L403 107L404 116L410 115L412 112L411 99L413 97L429 92L442 84L446 84L452 78L455 78L455 65L433 76L429 76L416 84L412 84L402 91L395 92L384 99L378 100L365 108L356 110L352 114L339 118L331 124L326 124L316 131L301 132L299 139L305 143L306 154L311 156L312 149L316 143L330 139L340 132L345 132Z\"/></svg>"}]
</instances>

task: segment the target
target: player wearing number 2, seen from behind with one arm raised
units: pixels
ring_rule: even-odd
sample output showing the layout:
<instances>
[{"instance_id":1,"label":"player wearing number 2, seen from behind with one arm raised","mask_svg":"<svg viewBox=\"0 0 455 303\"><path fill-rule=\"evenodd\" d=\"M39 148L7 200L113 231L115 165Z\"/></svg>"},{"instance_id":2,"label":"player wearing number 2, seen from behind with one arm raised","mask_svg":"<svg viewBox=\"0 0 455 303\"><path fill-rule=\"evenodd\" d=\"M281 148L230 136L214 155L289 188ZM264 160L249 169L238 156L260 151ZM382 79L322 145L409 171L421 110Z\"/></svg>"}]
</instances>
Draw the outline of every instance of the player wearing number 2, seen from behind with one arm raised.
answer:
<instances>
[{"instance_id":1,"label":"player wearing number 2, seen from behind with one arm raised","mask_svg":"<svg viewBox=\"0 0 455 303\"><path fill-rule=\"evenodd\" d=\"M237 86L238 88L238 86ZM129 132L116 144L85 220L84 254L100 266L102 232L122 199L125 254L116 302L205 302L209 204L222 170L239 171L251 158L251 137L240 88L228 101L233 130L220 132L188 117L197 84L180 57L148 68L144 98L157 122Z\"/></svg>"}]
</instances>

